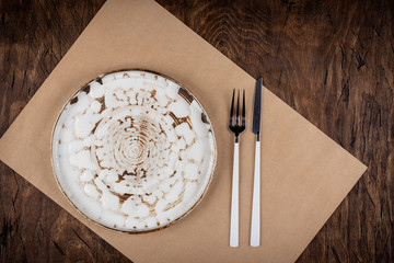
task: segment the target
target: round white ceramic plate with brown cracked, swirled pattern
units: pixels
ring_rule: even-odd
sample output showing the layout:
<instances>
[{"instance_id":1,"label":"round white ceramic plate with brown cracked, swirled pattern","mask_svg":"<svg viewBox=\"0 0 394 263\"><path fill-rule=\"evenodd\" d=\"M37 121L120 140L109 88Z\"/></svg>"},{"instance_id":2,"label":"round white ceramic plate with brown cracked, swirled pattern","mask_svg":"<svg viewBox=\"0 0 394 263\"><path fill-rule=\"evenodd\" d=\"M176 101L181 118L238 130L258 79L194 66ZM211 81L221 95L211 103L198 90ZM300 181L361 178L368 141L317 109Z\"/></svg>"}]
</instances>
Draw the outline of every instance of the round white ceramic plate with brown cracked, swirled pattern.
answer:
<instances>
[{"instance_id":1,"label":"round white ceramic plate with brown cracked, swirled pattern","mask_svg":"<svg viewBox=\"0 0 394 263\"><path fill-rule=\"evenodd\" d=\"M127 232L187 215L211 181L217 147L196 98L169 77L102 75L63 106L53 133L55 178L84 216Z\"/></svg>"}]
</instances>

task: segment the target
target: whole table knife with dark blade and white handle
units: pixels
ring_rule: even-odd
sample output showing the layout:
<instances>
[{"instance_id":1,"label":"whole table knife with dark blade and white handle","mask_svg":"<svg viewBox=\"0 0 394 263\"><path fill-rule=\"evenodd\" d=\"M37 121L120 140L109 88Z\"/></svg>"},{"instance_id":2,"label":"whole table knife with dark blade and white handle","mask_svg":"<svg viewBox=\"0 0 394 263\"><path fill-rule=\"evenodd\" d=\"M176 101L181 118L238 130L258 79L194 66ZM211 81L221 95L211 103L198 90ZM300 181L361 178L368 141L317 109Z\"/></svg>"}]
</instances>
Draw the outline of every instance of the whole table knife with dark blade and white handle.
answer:
<instances>
[{"instance_id":1,"label":"whole table knife with dark blade and white handle","mask_svg":"<svg viewBox=\"0 0 394 263\"><path fill-rule=\"evenodd\" d=\"M255 87L252 132L256 134L255 169L252 201L251 245L260 243L260 123L262 123L262 87L263 78L258 78Z\"/></svg>"}]
</instances>

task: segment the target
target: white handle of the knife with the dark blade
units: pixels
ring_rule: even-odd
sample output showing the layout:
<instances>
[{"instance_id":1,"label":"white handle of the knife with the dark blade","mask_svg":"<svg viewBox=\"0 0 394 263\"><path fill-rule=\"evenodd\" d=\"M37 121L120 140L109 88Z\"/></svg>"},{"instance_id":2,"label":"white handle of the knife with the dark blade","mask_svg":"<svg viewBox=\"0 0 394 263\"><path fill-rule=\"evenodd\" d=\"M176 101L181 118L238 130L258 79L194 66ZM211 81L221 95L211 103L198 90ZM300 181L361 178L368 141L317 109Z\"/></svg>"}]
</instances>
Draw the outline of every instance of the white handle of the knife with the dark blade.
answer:
<instances>
[{"instance_id":1,"label":"white handle of the knife with the dark blade","mask_svg":"<svg viewBox=\"0 0 394 263\"><path fill-rule=\"evenodd\" d=\"M252 247L259 247L260 243L259 217L260 217L260 141L258 138L256 140L256 149L255 149L255 171L254 171L254 183L253 183L252 227L251 227Z\"/></svg>"}]
</instances>

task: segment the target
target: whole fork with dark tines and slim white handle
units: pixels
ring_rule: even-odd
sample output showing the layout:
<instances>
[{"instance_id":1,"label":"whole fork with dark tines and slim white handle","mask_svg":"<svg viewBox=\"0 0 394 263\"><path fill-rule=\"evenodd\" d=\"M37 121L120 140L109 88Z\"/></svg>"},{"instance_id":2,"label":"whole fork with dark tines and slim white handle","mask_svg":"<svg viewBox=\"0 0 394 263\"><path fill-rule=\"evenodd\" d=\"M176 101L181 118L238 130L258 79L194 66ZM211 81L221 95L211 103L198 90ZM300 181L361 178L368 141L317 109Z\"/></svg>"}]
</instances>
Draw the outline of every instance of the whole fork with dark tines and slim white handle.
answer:
<instances>
[{"instance_id":1,"label":"whole fork with dark tines and slim white handle","mask_svg":"<svg viewBox=\"0 0 394 263\"><path fill-rule=\"evenodd\" d=\"M239 181L240 181L240 139L239 136L244 132L246 125L245 121L245 90L243 90L243 105L242 105L242 116L240 116L240 90L237 92L236 100L236 112L234 116L234 96L235 89L233 90L233 96L231 102L230 110L230 119L229 128L232 133L235 134L235 144L234 144L234 161L233 161L233 175L232 175L232 193L231 193L231 221L230 221L230 247L239 247ZM234 124L235 121L235 124Z\"/></svg>"}]
</instances>

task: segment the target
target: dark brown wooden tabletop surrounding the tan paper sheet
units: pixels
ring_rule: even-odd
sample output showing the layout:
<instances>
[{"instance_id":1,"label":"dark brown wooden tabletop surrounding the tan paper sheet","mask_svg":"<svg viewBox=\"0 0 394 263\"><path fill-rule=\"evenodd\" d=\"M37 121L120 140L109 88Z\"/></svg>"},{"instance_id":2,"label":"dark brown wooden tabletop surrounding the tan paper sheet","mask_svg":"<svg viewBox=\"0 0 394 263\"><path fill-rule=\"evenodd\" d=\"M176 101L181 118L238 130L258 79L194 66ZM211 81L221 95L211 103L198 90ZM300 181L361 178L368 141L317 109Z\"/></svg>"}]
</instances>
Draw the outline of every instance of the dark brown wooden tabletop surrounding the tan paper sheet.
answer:
<instances>
[{"instance_id":1,"label":"dark brown wooden tabletop surrounding the tan paper sheet","mask_svg":"<svg viewBox=\"0 0 394 263\"><path fill-rule=\"evenodd\" d=\"M1 1L0 135L103 2ZM368 165L298 262L394 262L394 2L159 2ZM1 262L129 262L3 163L0 184Z\"/></svg>"}]
</instances>

